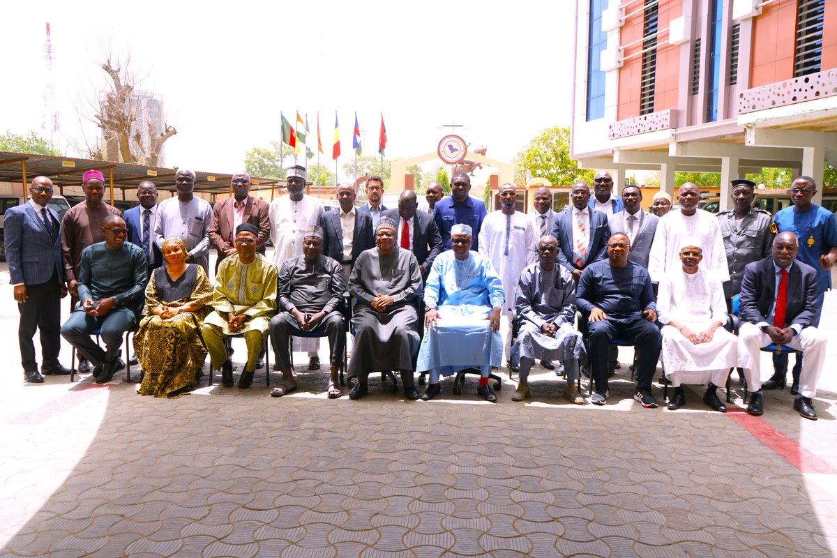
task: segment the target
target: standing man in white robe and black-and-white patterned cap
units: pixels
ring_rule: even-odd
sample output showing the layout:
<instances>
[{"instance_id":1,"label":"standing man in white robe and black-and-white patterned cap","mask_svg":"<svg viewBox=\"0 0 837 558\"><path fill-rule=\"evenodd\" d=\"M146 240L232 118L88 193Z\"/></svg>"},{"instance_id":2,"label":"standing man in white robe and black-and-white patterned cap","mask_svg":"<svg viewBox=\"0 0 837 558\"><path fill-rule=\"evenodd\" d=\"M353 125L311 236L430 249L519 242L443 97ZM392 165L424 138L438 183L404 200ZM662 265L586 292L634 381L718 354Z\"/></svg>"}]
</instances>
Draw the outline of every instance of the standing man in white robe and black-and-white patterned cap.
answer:
<instances>
[{"instance_id":1,"label":"standing man in white robe and black-and-white patterned cap","mask_svg":"<svg viewBox=\"0 0 837 558\"><path fill-rule=\"evenodd\" d=\"M285 176L288 195L270 202L270 239L273 241L273 263L282 269L289 259L302 255L306 230L320 222L320 200L305 193L306 168L291 166ZM295 337L293 350L308 353L308 369L320 369L320 340ZM277 365L278 366L278 363Z\"/></svg>"}]
</instances>

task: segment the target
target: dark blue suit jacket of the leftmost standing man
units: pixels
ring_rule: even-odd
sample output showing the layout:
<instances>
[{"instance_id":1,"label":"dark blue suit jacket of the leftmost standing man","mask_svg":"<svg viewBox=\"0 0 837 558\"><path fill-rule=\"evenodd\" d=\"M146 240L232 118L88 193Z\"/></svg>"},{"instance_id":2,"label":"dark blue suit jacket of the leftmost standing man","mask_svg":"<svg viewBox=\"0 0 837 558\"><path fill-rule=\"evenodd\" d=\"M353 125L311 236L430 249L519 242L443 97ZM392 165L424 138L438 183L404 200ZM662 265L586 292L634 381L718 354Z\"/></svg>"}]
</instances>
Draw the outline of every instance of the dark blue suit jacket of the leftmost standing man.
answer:
<instances>
[{"instance_id":1,"label":"dark blue suit jacket of the leftmost standing man","mask_svg":"<svg viewBox=\"0 0 837 558\"><path fill-rule=\"evenodd\" d=\"M64 283L61 225L58 213L50 207L47 207L47 213L53 222L52 234L28 200L6 210L3 234L11 284L42 284L52 279L53 274Z\"/></svg>"}]
</instances>

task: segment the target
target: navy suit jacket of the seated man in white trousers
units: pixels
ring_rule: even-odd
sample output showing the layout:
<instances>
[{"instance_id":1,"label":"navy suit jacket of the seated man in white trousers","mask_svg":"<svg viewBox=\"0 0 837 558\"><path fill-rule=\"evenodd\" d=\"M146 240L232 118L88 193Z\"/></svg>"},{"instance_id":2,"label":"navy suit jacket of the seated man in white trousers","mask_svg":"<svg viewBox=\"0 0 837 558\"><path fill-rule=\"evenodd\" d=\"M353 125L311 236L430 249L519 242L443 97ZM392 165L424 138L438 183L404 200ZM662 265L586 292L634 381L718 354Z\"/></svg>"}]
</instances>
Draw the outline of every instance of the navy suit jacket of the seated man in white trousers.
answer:
<instances>
[{"instance_id":1,"label":"navy suit jacket of the seated man in white trousers","mask_svg":"<svg viewBox=\"0 0 837 558\"><path fill-rule=\"evenodd\" d=\"M776 272L773 269L773 258L747 264L741 283L741 298L738 299L741 319L751 324L768 321L770 307L776 301L775 291ZM788 271L785 322L787 325L799 324L808 327L816 315L817 271L794 259Z\"/></svg>"}]
</instances>

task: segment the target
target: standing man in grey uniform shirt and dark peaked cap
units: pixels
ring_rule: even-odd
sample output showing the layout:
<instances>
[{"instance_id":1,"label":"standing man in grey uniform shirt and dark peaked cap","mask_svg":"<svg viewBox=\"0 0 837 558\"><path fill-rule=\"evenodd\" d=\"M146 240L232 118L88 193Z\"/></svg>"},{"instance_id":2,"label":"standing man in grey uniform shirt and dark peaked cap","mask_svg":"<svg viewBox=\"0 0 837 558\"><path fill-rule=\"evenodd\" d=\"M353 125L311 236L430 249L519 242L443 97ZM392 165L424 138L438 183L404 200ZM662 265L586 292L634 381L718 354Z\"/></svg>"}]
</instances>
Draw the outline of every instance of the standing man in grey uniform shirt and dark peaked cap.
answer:
<instances>
[{"instance_id":1,"label":"standing man in grey uniform shirt and dark peaked cap","mask_svg":"<svg viewBox=\"0 0 837 558\"><path fill-rule=\"evenodd\" d=\"M724 283L727 310L732 310L732 297L741 292L744 268L747 264L769 258L773 246L770 212L752 207L756 183L737 178L731 184L732 209L718 213L730 274L730 280Z\"/></svg>"}]
</instances>

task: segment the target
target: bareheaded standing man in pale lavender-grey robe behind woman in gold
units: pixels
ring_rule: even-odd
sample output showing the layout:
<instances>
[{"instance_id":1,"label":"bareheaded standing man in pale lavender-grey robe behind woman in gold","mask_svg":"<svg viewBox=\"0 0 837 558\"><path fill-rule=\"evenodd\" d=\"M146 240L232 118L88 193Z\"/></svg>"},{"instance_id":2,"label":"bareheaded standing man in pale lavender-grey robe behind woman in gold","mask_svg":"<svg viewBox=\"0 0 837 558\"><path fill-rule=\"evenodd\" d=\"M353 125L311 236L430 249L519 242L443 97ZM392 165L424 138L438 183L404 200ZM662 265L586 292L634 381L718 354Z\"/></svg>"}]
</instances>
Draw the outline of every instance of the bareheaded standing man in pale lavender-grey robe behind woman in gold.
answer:
<instances>
[{"instance_id":1,"label":"bareheaded standing man in pale lavender-grey robe behind woman in gold","mask_svg":"<svg viewBox=\"0 0 837 558\"><path fill-rule=\"evenodd\" d=\"M195 197L195 173L180 169L174 175L177 197L160 203L157 224L154 226L154 243L162 248L166 238L177 237L186 244L189 259L209 274L209 225L212 223L212 207L209 202Z\"/></svg>"}]
</instances>

